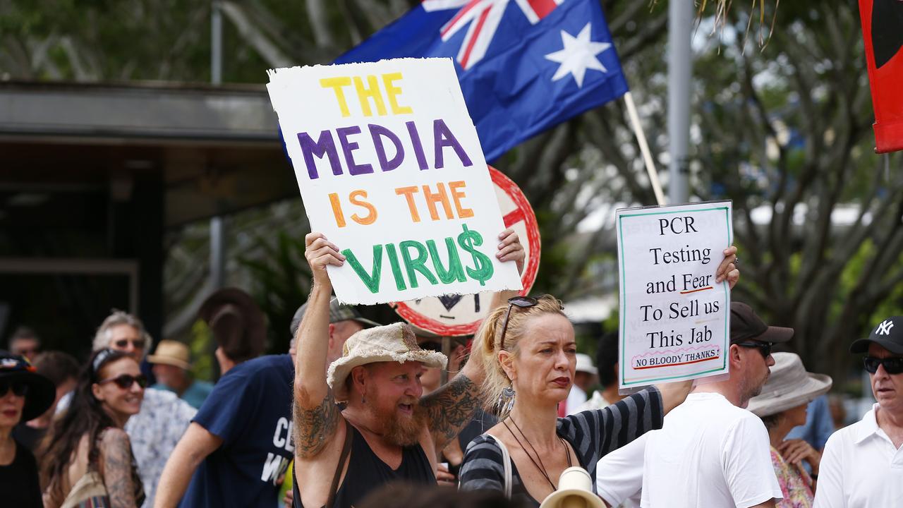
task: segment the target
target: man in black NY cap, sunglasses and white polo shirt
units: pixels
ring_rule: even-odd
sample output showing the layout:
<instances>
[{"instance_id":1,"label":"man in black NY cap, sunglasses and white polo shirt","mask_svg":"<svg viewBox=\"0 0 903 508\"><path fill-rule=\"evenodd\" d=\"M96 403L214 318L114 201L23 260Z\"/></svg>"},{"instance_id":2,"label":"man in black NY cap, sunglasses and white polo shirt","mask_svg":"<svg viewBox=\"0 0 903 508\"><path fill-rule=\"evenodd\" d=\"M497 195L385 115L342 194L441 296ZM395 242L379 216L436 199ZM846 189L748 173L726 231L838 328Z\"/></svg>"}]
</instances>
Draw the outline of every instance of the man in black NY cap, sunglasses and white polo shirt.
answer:
<instances>
[{"instance_id":1,"label":"man in black NY cap, sunglasses and white polo shirt","mask_svg":"<svg viewBox=\"0 0 903 508\"><path fill-rule=\"evenodd\" d=\"M852 343L850 353L865 354L877 402L828 438L815 506L903 506L903 316L882 320L869 338Z\"/></svg>"}]
</instances>

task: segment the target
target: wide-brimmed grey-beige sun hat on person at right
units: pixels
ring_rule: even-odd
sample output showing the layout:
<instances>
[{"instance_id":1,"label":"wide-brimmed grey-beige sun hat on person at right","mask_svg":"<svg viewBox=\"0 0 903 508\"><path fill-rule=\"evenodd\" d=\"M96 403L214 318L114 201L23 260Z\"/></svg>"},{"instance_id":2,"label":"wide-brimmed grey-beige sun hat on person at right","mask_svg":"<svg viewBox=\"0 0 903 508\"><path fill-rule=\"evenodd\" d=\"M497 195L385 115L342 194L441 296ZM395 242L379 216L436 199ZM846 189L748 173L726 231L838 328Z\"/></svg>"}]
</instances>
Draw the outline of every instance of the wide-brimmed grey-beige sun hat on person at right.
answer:
<instances>
[{"instance_id":1,"label":"wide-brimmed grey-beige sun hat on person at right","mask_svg":"<svg viewBox=\"0 0 903 508\"><path fill-rule=\"evenodd\" d=\"M759 417L776 415L815 400L831 390L831 377L805 372L803 361L794 353L772 353L775 366L762 392L749 400L747 409Z\"/></svg>"}]
</instances>

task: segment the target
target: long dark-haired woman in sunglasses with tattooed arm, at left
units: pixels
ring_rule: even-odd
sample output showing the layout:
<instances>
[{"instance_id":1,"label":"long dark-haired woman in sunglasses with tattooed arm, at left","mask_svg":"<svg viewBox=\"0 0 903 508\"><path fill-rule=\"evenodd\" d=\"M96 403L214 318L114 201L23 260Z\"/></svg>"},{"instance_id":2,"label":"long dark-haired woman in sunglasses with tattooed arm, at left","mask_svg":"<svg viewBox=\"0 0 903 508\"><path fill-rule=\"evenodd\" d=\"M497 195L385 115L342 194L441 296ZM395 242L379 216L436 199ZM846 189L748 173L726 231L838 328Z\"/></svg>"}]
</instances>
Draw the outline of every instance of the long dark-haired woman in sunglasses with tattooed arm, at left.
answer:
<instances>
[{"instance_id":1,"label":"long dark-haired woman in sunglasses with tattooed arm, at left","mask_svg":"<svg viewBox=\"0 0 903 508\"><path fill-rule=\"evenodd\" d=\"M146 384L127 353L91 355L69 409L42 443L44 506L141 506L144 489L123 428L141 409Z\"/></svg>"}]
</instances>

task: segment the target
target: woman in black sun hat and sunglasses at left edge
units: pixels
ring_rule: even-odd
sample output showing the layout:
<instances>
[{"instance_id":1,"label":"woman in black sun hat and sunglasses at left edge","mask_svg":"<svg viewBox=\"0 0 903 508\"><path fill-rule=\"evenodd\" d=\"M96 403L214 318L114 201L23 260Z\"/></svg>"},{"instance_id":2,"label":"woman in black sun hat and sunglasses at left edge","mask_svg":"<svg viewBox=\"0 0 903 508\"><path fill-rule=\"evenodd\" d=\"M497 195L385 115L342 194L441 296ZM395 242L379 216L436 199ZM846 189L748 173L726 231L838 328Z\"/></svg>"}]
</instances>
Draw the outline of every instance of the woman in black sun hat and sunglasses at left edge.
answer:
<instances>
[{"instance_id":1,"label":"woman in black sun hat and sunglasses at left edge","mask_svg":"<svg viewBox=\"0 0 903 508\"><path fill-rule=\"evenodd\" d=\"M12 432L20 421L41 416L55 396L53 383L34 372L24 356L0 351L0 492L5 506L43 506L37 462Z\"/></svg>"}]
</instances>

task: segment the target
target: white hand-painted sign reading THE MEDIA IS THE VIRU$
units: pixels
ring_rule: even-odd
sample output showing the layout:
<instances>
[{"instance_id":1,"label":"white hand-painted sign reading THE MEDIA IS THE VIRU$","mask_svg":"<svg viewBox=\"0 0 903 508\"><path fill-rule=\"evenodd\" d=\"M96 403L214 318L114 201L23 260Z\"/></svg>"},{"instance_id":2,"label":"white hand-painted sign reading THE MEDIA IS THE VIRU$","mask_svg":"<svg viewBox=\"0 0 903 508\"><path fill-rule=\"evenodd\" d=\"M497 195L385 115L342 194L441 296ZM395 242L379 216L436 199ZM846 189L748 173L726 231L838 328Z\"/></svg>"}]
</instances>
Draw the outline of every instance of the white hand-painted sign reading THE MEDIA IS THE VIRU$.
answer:
<instances>
[{"instance_id":1,"label":"white hand-painted sign reading THE MEDIA IS THE VIRU$","mask_svg":"<svg viewBox=\"0 0 903 508\"><path fill-rule=\"evenodd\" d=\"M496 259L505 229L450 59L268 71L311 221L347 258L343 302L519 289Z\"/></svg>"}]
</instances>

